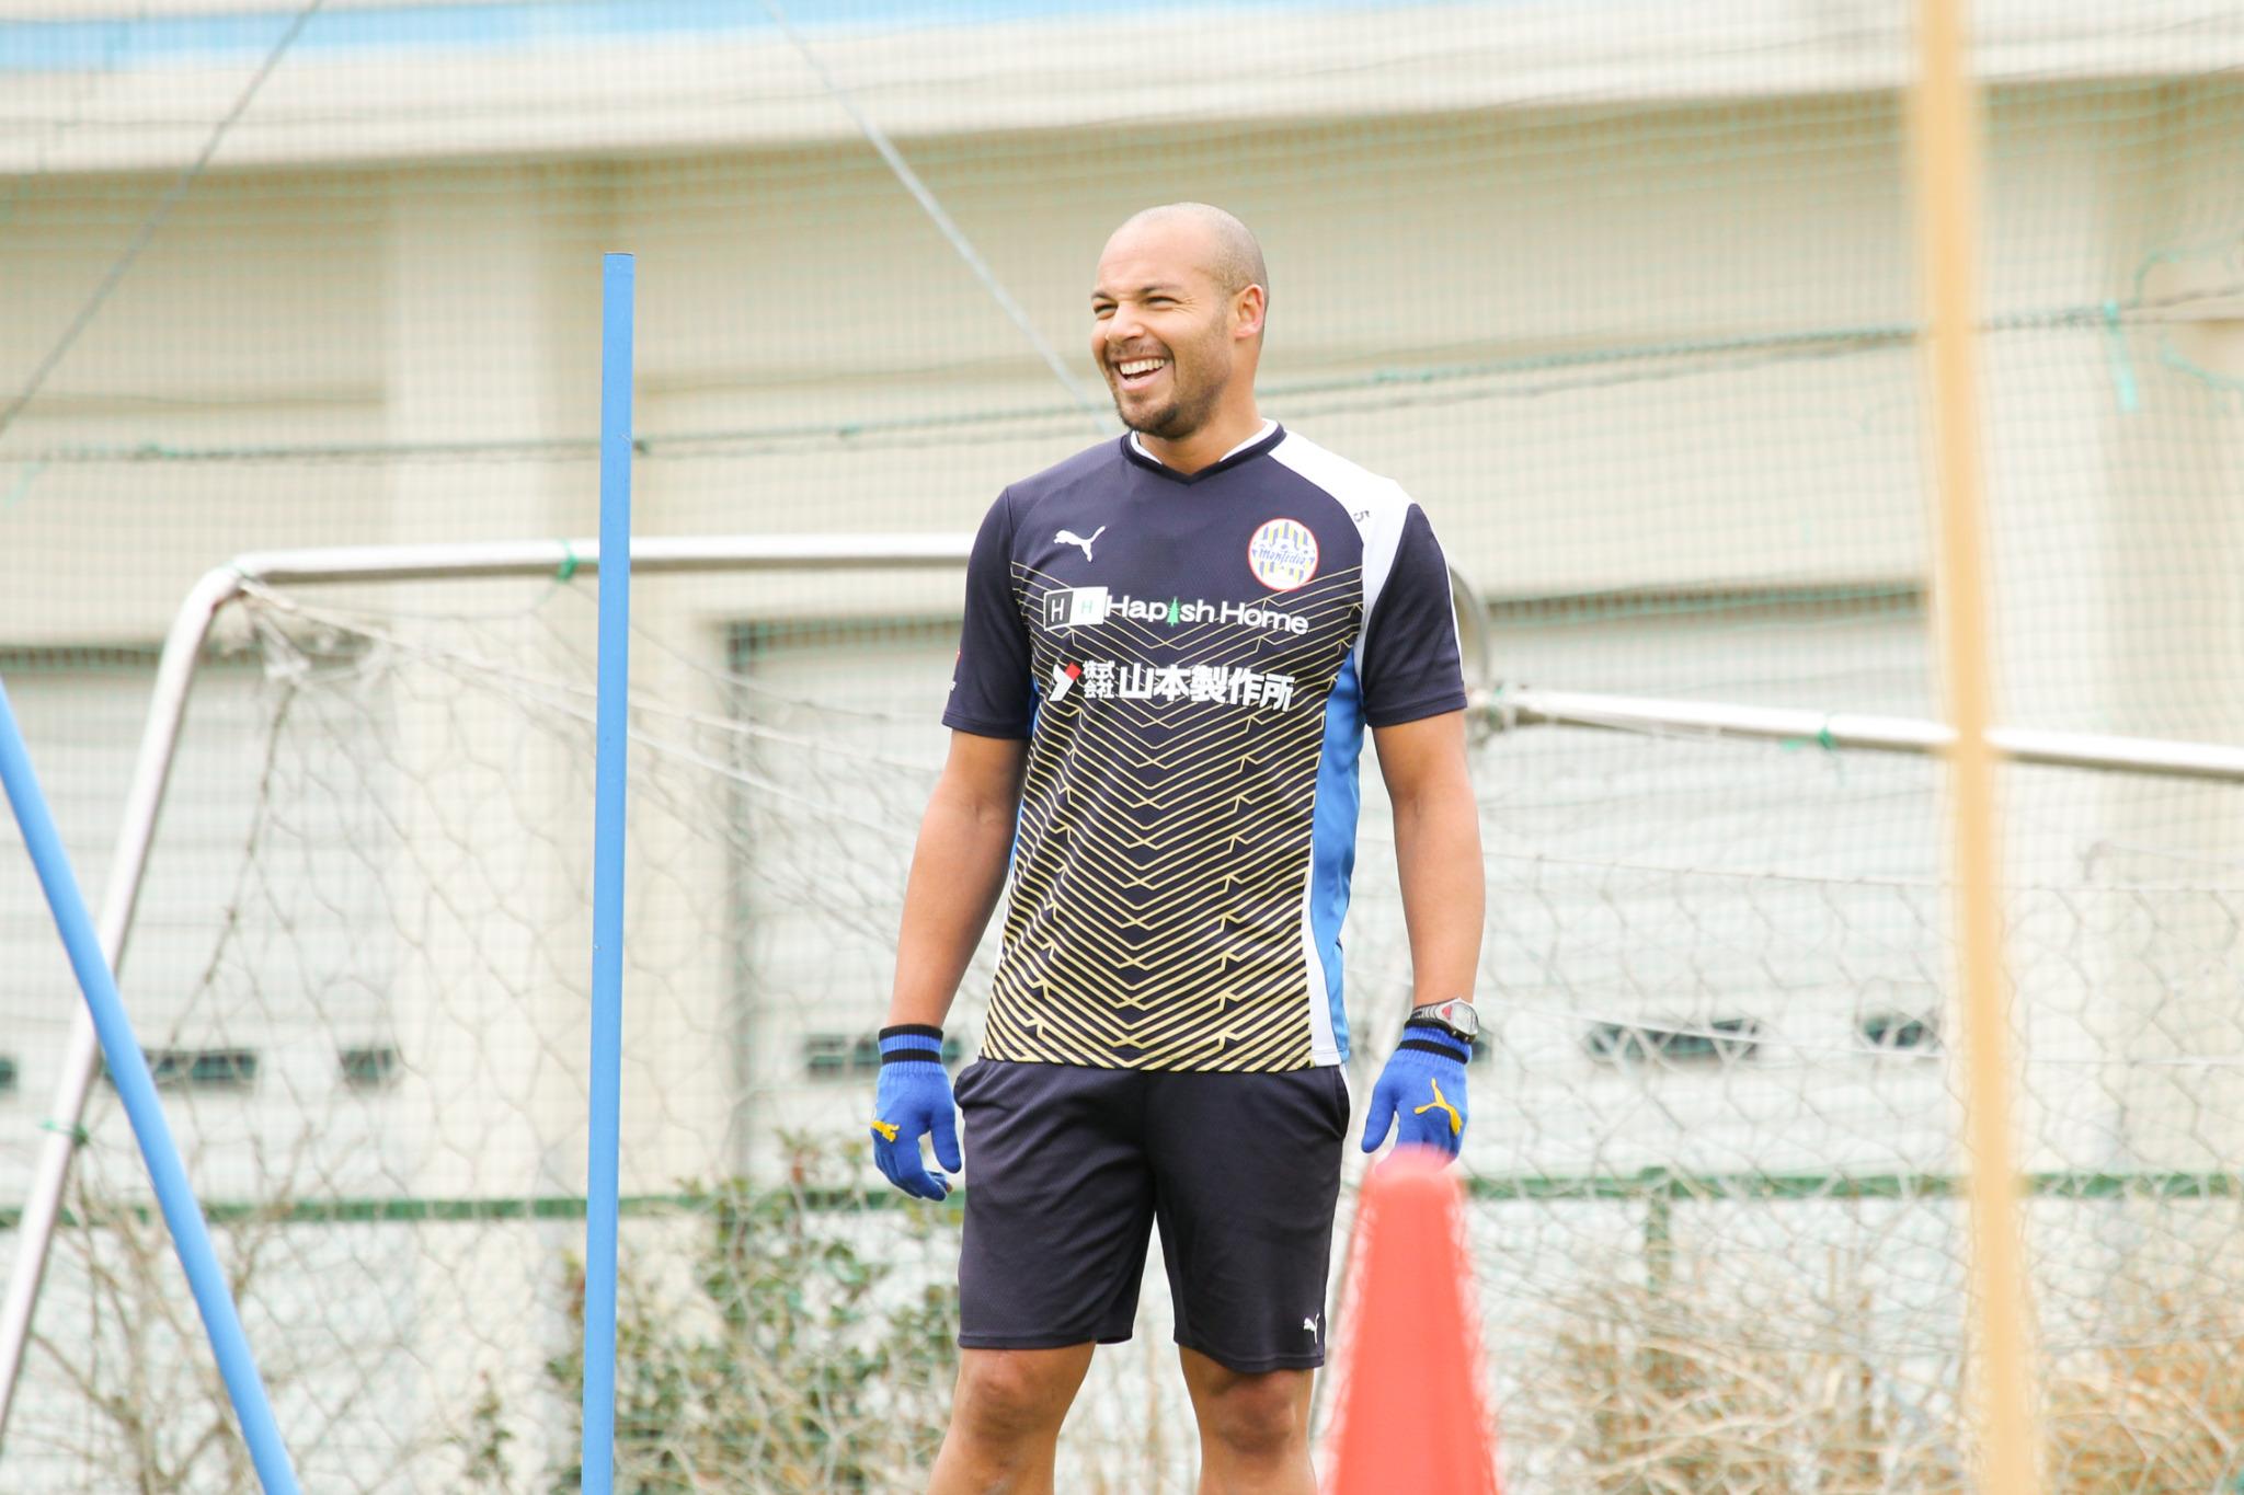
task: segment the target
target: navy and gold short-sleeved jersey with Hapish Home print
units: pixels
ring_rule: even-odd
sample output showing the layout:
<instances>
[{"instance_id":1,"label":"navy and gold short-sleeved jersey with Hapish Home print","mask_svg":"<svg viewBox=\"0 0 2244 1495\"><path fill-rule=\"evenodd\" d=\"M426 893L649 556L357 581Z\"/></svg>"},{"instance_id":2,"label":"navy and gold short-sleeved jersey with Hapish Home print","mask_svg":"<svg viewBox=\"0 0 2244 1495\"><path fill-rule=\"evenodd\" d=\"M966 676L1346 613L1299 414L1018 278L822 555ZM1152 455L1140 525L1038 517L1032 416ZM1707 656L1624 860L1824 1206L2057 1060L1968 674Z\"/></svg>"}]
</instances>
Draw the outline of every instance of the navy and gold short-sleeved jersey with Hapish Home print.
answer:
<instances>
[{"instance_id":1,"label":"navy and gold short-sleeved jersey with Hapish Home print","mask_svg":"<svg viewBox=\"0 0 2244 1495\"><path fill-rule=\"evenodd\" d=\"M1463 704L1425 513L1281 426L1189 475L1126 435L1005 489L942 713L1030 742L983 1056L1344 1060L1364 726Z\"/></svg>"}]
</instances>

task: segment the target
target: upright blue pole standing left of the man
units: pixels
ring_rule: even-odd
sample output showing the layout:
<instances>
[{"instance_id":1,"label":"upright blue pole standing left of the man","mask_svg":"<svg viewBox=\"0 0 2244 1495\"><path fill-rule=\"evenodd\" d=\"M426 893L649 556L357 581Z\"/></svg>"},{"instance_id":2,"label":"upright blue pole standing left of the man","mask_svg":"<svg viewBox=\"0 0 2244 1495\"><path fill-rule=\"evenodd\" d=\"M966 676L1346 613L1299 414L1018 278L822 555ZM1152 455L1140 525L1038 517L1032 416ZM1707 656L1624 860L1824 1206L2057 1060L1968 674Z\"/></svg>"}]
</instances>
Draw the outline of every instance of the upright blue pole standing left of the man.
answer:
<instances>
[{"instance_id":1,"label":"upright blue pole standing left of the man","mask_svg":"<svg viewBox=\"0 0 2244 1495\"><path fill-rule=\"evenodd\" d=\"M592 1150L583 1213L583 1493L615 1486L615 1190L624 1092L624 758L631 749L633 258L601 260L599 711L592 791Z\"/></svg>"}]
</instances>

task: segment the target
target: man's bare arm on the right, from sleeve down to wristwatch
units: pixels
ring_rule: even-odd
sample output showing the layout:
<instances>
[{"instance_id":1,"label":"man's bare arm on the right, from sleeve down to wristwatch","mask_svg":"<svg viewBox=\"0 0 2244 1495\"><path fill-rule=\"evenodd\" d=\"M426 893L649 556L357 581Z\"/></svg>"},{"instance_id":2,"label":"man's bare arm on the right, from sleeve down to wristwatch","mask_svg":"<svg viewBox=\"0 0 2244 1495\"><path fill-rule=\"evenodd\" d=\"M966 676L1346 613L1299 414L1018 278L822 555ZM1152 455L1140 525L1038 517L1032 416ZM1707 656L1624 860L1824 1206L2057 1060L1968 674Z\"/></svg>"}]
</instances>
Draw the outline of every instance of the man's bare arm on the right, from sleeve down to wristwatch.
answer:
<instances>
[{"instance_id":1,"label":"man's bare arm on the right, from sleeve down to wristwatch","mask_svg":"<svg viewBox=\"0 0 2244 1495\"><path fill-rule=\"evenodd\" d=\"M1396 811L1411 1004L1470 997L1481 964L1481 816L1465 773L1465 713L1373 726Z\"/></svg>"}]
</instances>

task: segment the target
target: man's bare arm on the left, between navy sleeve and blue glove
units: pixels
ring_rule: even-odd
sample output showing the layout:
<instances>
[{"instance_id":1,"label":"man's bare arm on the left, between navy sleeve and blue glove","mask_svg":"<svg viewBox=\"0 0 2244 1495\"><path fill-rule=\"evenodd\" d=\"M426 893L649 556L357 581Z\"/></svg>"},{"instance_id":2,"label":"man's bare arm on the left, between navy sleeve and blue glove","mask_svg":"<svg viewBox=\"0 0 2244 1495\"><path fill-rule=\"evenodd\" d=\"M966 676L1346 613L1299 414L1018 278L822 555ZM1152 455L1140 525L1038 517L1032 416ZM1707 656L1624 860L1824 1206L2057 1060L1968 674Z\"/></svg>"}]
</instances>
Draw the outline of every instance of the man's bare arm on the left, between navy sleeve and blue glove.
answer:
<instances>
[{"instance_id":1,"label":"man's bare arm on the left, between navy sleeve and blue glove","mask_svg":"<svg viewBox=\"0 0 2244 1495\"><path fill-rule=\"evenodd\" d=\"M1026 742L951 733L904 883L889 1027L942 1027L951 1011L958 982L1005 888L1026 764Z\"/></svg>"}]
</instances>

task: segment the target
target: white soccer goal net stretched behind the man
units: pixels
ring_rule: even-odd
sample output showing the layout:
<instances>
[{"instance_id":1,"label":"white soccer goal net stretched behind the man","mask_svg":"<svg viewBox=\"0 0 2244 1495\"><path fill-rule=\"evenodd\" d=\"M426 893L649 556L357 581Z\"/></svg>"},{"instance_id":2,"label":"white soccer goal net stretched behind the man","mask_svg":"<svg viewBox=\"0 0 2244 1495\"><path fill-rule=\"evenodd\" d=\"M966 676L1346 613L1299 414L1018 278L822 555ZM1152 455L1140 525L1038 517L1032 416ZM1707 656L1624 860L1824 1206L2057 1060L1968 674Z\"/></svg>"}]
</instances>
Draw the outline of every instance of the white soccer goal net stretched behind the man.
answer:
<instances>
[{"instance_id":1,"label":"white soccer goal net stretched behind the man","mask_svg":"<svg viewBox=\"0 0 2244 1495\"><path fill-rule=\"evenodd\" d=\"M617 1488L904 1488L947 1408L958 1208L893 1195L862 1123L956 619L880 572L826 616L763 610L765 578L635 583ZM572 1484L595 596L251 587L204 659L123 988L307 1488ZM1652 657L1703 699L1930 706L1914 594L1486 625L1508 681L1611 690ZM1820 668L1768 670L1788 652ZM1510 699L1472 749L1463 1159L1510 1479L1970 1488L1939 764L1501 731ZM1364 789L1358 1096L1409 966ZM2056 1488L2215 1488L2244 1468L2233 789L2004 791ZM9 1484L240 1488L108 1087L85 1127ZM1189 1488L1167 1331L1149 1271L1064 1488Z\"/></svg>"}]
</instances>

